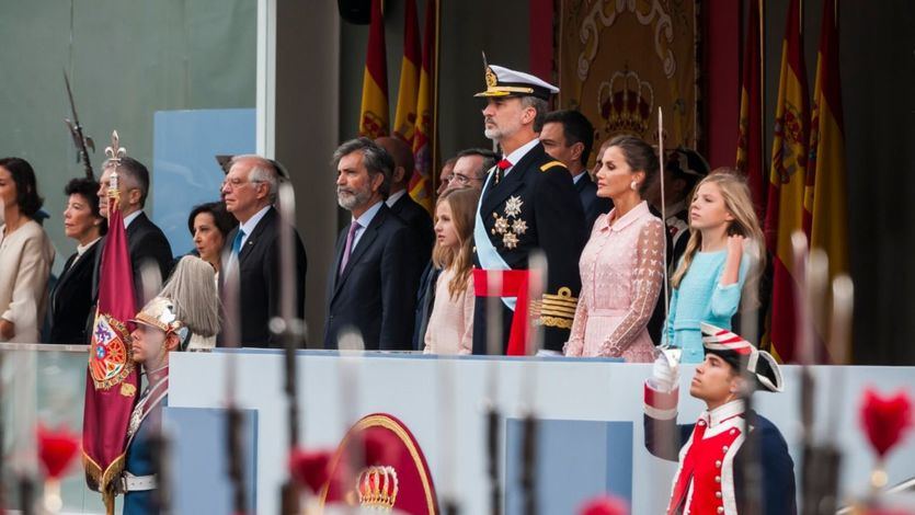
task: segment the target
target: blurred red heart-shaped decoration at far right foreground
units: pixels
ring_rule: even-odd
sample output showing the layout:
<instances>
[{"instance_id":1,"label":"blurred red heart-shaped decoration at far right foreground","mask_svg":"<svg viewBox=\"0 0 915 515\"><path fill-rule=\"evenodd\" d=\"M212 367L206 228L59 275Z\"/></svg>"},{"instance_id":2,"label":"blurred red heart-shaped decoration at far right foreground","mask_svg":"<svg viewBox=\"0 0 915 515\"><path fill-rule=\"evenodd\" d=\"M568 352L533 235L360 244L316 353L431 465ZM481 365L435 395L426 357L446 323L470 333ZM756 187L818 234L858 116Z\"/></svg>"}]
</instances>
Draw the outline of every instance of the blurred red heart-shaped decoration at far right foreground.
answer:
<instances>
[{"instance_id":1,"label":"blurred red heart-shaped decoration at far right foreground","mask_svg":"<svg viewBox=\"0 0 915 515\"><path fill-rule=\"evenodd\" d=\"M905 391L884 398L868 388L861 408L861 423L873 450L883 458L912 426L912 400Z\"/></svg>"}]
</instances>

